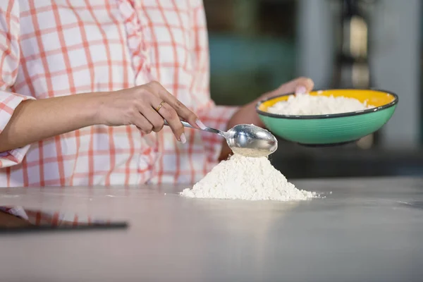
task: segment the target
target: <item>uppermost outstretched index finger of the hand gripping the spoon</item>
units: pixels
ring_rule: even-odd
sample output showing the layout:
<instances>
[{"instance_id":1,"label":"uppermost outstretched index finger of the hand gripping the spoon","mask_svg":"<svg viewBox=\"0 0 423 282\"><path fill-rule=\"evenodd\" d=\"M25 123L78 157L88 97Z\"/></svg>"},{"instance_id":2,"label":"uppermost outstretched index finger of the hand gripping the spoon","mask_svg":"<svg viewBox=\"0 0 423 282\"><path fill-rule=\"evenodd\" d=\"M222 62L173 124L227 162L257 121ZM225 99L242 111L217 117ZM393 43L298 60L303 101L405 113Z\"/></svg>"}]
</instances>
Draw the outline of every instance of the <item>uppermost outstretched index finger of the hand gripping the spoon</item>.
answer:
<instances>
[{"instance_id":1,"label":"uppermost outstretched index finger of the hand gripping the spoon","mask_svg":"<svg viewBox=\"0 0 423 282\"><path fill-rule=\"evenodd\" d=\"M159 98L166 102L168 106L171 106L176 111L178 116L183 118L195 128L200 128L202 123L198 119L197 115L190 111L190 109L188 109L184 104L182 104L182 102L176 99L176 97L174 97L171 93L169 93L163 86L159 84L159 82L150 82L149 87L152 87L152 89L155 91L155 94L157 94ZM167 118L166 121L168 121Z\"/></svg>"}]
</instances>

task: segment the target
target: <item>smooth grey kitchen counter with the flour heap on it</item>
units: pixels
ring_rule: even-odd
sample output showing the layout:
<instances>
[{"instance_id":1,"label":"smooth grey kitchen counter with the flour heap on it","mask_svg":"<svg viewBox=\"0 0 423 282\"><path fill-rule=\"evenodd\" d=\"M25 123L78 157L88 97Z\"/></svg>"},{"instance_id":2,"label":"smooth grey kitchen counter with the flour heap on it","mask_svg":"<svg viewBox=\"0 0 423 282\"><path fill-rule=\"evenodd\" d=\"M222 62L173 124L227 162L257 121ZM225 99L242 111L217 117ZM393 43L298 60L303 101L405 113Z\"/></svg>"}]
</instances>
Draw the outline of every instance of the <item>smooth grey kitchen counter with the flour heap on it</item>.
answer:
<instances>
[{"instance_id":1,"label":"smooth grey kitchen counter with the flour heap on it","mask_svg":"<svg viewBox=\"0 0 423 282\"><path fill-rule=\"evenodd\" d=\"M0 281L422 281L422 179L293 182L325 197L194 200L173 185L0 189L0 205L129 223L2 234Z\"/></svg>"}]
</instances>

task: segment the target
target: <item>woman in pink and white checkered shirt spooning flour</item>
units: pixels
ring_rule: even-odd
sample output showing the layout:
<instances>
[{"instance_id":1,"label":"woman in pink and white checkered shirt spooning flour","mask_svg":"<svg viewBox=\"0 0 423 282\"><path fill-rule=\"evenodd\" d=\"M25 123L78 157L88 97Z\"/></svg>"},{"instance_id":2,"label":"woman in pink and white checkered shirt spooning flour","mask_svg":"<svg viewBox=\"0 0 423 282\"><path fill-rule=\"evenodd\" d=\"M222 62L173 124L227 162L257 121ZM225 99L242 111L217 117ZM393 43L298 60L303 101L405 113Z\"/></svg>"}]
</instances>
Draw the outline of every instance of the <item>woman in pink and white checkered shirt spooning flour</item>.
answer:
<instances>
[{"instance_id":1,"label":"woman in pink and white checkered shirt spooning flour","mask_svg":"<svg viewBox=\"0 0 423 282\"><path fill-rule=\"evenodd\" d=\"M263 126L210 99L200 0L1 1L0 50L0 186L193 183L230 150L180 119Z\"/></svg>"}]
</instances>

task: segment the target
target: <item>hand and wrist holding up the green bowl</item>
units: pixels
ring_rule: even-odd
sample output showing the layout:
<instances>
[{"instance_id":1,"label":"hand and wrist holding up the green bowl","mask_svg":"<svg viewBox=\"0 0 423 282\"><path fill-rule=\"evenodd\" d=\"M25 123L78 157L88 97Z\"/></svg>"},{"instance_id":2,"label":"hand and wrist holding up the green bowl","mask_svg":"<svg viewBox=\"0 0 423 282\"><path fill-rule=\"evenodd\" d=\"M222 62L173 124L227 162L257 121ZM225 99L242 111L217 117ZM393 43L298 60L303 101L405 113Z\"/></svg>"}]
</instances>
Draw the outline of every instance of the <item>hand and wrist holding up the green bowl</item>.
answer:
<instances>
[{"instance_id":1,"label":"hand and wrist holding up the green bowl","mask_svg":"<svg viewBox=\"0 0 423 282\"><path fill-rule=\"evenodd\" d=\"M228 121L228 128L232 128L233 126L240 123L254 124L263 128L264 123L260 120L255 110L257 102L281 94L308 93L312 91L313 87L314 82L310 78L296 78L295 80L286 82L285 84L278 87L276 90L262 94L262 96L260 96L258 99L255 99L255 101L250 102L249 104L246 104L245 106L241 107ZM228 147L226 142L224 142L219 160L227 159L229 154L231 154L231 149Z\"/></svg>"}]
</instances>

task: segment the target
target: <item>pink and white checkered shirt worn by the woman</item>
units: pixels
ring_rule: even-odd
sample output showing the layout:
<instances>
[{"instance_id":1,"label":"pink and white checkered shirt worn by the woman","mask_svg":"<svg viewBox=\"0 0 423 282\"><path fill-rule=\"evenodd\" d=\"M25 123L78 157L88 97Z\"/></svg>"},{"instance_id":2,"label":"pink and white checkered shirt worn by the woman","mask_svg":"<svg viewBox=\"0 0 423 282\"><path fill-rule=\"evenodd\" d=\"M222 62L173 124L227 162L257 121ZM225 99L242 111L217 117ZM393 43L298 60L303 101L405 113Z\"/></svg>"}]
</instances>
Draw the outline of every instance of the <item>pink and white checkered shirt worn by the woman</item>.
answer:
<instances>
[{"instance_id":1,"label":"pink and white checkered shirt worn by the woman","mask_svg":"<svg viewBox=\"0 0 423 282\"><path fill-rule=\"evenodd\" d=\"M201 0L0 1L0 134L25 99L105 92L158 80L200 119L225 129L235 108L209 95ZM193 183L221 139L170 128L96 125L0 153L0 187Z\"/></svg>"}]
</instances>

